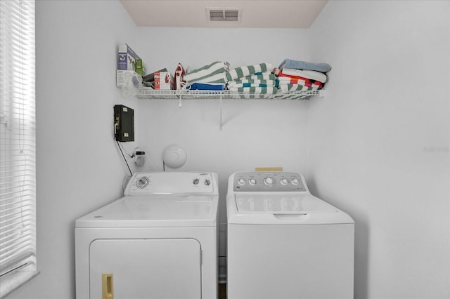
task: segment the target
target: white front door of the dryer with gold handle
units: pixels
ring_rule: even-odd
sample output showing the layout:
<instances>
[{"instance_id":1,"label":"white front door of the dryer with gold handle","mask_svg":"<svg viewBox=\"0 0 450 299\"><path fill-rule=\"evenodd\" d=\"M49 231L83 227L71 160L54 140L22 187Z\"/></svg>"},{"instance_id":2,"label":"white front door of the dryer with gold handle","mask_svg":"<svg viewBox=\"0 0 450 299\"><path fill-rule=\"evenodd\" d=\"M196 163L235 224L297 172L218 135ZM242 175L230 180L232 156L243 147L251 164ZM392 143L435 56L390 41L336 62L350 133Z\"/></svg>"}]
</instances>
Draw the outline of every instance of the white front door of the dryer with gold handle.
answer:
<instances>
[{"instance_id":1,"label":"white front door of the dryer with gold handle","mask_svg":"<svg viewBox=\"0 0 450 299\"><path fill-rule=\"evenodd\" d=\"M201 298L195 239L99 239L90 247L91 298Z\"/></svg>"}]
</instances>

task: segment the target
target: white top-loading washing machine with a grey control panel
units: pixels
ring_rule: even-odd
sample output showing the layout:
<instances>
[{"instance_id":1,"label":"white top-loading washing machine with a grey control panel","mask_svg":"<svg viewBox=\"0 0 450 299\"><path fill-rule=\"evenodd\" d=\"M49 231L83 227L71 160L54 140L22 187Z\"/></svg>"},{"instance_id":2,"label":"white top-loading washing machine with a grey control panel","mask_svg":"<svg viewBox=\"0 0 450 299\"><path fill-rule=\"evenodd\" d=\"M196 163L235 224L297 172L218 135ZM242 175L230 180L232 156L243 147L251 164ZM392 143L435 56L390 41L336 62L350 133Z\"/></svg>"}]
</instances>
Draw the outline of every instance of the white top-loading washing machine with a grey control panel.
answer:
<instances>
[{"instance_id":1,"label":"white top-loading washing machine with a grey control panel","mask_svg":"<svg viewBox=\"0 0 450 299\"><path fill-rule=\"evenodd\" d=\"M229 299L353 298L354 221L300 173L233 173L226 211Z\"/></svg>"}]
</instances>

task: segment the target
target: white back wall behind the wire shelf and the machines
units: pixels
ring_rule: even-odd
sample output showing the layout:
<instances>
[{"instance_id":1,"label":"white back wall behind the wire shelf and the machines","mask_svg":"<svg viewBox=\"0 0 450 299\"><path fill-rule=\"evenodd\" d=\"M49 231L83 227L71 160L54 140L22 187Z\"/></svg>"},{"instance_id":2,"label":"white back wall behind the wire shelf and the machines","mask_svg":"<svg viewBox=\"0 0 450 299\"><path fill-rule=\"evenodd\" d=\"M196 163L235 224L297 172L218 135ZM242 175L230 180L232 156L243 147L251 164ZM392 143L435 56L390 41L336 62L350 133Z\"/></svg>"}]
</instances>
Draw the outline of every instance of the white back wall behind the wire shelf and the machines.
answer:
<instances>
[{"instance_id":1,"label":"white back wall behind the wire shelf and the machines","mask_svg":"<svg viewBox=\"0 0 450 299\"><path fill-rule=\"evenodd\" d=\"M178 62L192 69L216 60L230 67L309 56L307 30L139 28L139 55L148 72ZM283 45L283 46L280 46ZM274 51L276 46L277 51ZM195 49L195 50L192 50ZM186 149L186 164L176 171L213 171L219 175L219 255L226 254L226 186L231 173L257 166L306 170L305 101L224 100L219 130L219 100L139 100L139 145L162 169L162 151L172 143ZM148 168L152 169L152 168ZM170 171L170 169L167 169ZM220 273L225 260L220 259Z\"/></svg>"}]
</instances>

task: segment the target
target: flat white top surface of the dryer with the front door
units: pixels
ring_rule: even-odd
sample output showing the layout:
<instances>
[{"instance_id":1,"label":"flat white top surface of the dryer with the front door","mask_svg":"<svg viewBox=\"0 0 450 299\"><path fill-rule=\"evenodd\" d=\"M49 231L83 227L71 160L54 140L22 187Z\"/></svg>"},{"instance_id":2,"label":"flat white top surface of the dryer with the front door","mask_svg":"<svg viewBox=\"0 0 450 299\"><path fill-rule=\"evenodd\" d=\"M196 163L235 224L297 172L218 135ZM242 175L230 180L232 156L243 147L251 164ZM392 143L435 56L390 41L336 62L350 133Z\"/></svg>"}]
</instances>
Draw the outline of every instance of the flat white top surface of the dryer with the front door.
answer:
<instances>
[{"instance_id":1,"label":"flat white top surface of the dryer with the front door","mask_svg":"<svg viewBox=\"0 0 450 299\"><path fill-rule=\"evenodd\" d=\"M76 227L215 226L218 197L122 197L75 222Z\"/></svg>"}]
</instances>

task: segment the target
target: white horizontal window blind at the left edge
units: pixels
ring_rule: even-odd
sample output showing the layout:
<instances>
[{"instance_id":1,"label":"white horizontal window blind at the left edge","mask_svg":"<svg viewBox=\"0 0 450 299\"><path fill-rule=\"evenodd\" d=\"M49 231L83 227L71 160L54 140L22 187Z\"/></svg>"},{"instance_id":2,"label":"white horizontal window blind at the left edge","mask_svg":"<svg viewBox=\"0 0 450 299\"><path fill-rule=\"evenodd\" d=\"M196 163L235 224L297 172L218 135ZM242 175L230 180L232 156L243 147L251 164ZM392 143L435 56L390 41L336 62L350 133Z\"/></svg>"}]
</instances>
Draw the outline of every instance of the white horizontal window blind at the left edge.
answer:
<instances>
[{"instance_id":1,"label":"white horizontal window blind at the left edge","mask_svg":"<svg viewBox=\"0 0 450 299\"><path fill-rule=\"evenodd\" d=\"M34 35L34 0L0 1L0 297L36 273Z\"/></svg>"}]
</instances>

